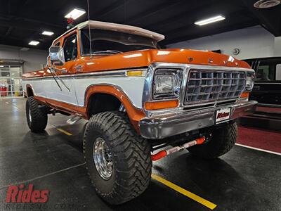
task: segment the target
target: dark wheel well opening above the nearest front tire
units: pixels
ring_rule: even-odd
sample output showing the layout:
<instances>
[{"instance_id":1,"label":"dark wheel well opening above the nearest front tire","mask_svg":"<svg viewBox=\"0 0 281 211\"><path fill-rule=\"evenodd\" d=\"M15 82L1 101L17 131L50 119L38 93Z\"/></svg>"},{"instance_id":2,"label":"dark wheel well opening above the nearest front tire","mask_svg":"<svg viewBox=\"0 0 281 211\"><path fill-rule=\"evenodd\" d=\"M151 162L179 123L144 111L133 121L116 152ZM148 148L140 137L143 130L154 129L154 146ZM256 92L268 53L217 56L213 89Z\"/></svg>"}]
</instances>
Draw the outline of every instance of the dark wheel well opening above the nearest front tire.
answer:
<instances>
[{"instance_id":1,"label":"dark wheel well opening above the nearest front tire","mask_svg":"<svg viewBox=\"0 0 281 211\"><path fill-rule=\"evenodd\" d=\"M89 117L105 111L119 110L121 104L119 99L111 94L92 94L87 106Z\"/></svg>"}]
</instances>

